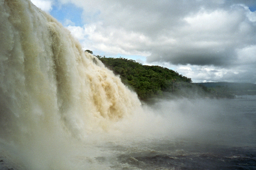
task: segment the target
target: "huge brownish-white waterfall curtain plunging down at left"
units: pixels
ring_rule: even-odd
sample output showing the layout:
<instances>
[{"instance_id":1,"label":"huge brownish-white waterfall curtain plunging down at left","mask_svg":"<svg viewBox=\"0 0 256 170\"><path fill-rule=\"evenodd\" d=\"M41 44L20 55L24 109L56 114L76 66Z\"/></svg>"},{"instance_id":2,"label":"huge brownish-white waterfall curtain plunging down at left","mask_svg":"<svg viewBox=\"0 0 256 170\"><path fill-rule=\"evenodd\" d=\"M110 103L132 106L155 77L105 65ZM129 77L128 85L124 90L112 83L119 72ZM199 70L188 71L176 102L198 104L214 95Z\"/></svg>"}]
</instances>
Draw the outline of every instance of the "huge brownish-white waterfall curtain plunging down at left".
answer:
<instances>
[{"instance_id":1,"label":"huge brownish-white waterfall curtain plunging down at left","mask_svg":"<svg viewBox=\"0 0 256 170\"><path fill-rule=\"evenodd\" d=\"M56 19L29 0L0 0L3 159L12 150L19 152L15 154L20 162L29 157L27 164L31 159L53 159L50 153L56 151L47 148L56 147L63 136L86 141L87 134L108 131L140 105L137 95L85 53ZM38 156L39 152L46 156ZM38 162L25 167L50 169Z\"/></svg>"}]
</instances>

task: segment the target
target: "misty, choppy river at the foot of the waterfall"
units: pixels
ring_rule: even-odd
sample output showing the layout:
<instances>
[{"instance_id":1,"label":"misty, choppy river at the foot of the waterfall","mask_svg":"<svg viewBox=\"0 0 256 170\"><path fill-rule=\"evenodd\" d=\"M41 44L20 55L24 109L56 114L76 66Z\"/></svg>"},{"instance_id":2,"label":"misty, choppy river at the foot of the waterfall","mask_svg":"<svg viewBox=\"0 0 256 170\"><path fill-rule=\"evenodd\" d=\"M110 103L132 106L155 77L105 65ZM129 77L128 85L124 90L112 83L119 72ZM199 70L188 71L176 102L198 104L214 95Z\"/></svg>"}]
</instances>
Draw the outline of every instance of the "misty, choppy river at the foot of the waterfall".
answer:
<instances>
[{"instance_id":1,"label":"misty, choppy river at the foot of the waterfall","mask_svg":"<svg viewBox=\"0 0 256 170\"><path fill-rule=\"evenodd\" d=\"M154 116L148 113L148 117L154 117L152 124L156 119L162 120L165 127L134 120L141 130L89 134L90 141L77 141L81 143L73 148L75 153L62 153L71 153L65 155L65 163L76 169L93 170L253 170L256 96L239 97L161 100L147 108L154 110ZM7 166L4 157L1 164L2 169L12 167ZM54 166L60 168L58 164ZM17 167L26 169L25 165Z\"/></svg>"}]
</instances>

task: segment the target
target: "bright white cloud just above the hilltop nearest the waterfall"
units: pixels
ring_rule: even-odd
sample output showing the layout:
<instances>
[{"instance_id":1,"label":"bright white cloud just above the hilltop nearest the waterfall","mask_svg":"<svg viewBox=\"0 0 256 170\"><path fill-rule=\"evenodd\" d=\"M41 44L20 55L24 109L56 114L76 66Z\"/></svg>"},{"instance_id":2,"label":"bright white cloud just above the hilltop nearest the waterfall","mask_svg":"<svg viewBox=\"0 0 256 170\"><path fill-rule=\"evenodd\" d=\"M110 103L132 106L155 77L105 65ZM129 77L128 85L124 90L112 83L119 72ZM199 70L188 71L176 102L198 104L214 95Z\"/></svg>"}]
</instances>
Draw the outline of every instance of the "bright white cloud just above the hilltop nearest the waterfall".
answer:
<instances>
[{"instance_id":1,"label":"bright white cloud just above the hilltop nearest the waterfall","mask_svg":"<svg viewBox=\"0 0 256 170\"><path fill-rule=\"evenodd\" d=\"M149 52L139 49L141 43L150 43L143 34L127 32L116 28L102 28L101 23L67 26L70 32L81 41L85 48L105 51L109 54L148 56Z\"/></svg>"}]
</instances>

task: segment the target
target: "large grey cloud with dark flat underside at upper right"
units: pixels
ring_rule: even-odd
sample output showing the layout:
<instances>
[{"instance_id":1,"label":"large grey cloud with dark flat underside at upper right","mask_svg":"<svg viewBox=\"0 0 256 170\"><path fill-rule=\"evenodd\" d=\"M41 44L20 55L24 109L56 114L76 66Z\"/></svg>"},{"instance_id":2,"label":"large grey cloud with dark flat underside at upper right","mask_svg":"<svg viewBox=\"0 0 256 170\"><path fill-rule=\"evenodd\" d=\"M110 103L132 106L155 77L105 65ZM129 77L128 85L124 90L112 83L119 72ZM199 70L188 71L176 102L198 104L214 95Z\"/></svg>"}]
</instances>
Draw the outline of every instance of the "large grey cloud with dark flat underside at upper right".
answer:
<instances>
[{"instance_id":1,"label":"large grey cloud with dark flat underside at upper right","mask_svg":"<svg viewBox=\"0 0 256 170\"><path fill-rule=\"evenodd\" d=\"M247 11L248 12L248 11ZM232 65L237 49L256 44L255 23L246 16L243 6L229 10L203 9L185 17L186 25L175 30L175 43L164 50L157 49L148 62L165 61L172 64ZM169 36L171 37L171 36Z\"/></svg>"}]
</instances>

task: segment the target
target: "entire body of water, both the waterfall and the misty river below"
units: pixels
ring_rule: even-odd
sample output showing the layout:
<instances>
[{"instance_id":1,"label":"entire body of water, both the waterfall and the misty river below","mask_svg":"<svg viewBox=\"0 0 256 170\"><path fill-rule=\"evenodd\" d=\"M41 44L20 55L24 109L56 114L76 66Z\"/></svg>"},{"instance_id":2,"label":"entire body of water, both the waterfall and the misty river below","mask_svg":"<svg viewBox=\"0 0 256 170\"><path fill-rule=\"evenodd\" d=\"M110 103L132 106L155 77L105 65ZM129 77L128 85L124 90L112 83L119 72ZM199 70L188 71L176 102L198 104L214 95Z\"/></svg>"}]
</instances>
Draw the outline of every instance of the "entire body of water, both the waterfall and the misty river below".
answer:
<instances>
[{"instance_id":1,"label":"entire body of water, both the waterfall and the misty river below","mask_svg":"<svg viewBox=\"0 0 256 170\"><path fill-rule=\"evenodd\" d=\"M29 0L0 0L0 170L256 169L256 97L137 95Z\"/></svg>"}]
</instances>

